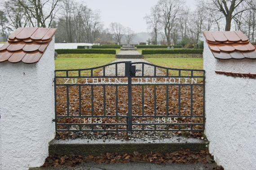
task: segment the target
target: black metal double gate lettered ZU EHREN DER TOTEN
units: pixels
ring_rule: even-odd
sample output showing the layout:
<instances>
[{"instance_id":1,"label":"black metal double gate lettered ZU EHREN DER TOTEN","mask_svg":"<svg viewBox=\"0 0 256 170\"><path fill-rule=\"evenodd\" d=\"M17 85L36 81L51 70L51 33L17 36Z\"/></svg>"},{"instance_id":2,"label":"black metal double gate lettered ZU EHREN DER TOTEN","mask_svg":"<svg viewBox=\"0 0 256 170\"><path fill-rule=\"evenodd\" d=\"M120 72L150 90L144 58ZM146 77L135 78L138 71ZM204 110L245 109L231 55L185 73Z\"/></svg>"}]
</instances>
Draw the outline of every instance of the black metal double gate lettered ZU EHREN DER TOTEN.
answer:
<instances>
[{"instance_id":1,"label":"black metal double gate lettered ZU EHREN DER TOTEN","mask_svg":"<svg viewBox=\"0 0 256 170\"><path fill-rule=\"evenodd\" d=\"M116 62L56 70L54 87L56 131L204 130L204 70Z\"/></svg>"}]
</instances>

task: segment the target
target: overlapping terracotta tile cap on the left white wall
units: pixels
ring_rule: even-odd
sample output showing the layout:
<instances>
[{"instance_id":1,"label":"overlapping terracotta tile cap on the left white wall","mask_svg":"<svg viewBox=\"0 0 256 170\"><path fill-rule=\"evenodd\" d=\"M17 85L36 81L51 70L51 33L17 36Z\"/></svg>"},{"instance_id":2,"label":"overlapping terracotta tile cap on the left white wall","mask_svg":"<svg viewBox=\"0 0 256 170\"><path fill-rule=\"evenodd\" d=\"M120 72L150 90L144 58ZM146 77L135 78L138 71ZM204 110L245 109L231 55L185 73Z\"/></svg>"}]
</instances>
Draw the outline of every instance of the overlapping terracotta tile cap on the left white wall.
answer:
<instances>
[{"instance_id":1,"label":"overlapping terracotta tile cap on the left white wall","mask_svg":"<svg viewBox=\"0 0 256 170\"><path fill-rule=\"evenodd\" d=\"M18 28L8 38L8 42L0 47L0 62L36 63L51 42L55 28Z\"/></svg>"}]
</instances>

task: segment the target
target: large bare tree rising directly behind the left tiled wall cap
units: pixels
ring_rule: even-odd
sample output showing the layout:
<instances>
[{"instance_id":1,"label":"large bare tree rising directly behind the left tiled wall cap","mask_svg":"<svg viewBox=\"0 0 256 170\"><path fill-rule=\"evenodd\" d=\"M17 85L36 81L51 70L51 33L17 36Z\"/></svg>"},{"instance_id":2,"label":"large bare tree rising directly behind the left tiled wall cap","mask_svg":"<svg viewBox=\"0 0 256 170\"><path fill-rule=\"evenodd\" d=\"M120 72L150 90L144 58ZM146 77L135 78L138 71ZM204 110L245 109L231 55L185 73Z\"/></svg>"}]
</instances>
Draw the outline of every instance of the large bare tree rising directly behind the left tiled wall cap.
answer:
<instances>
[{"instance_id":1,"label":"large bare tree rising directly behind the left tiled wall cap","mask_svg":"<svg viewBox=\"0 0 256 170\"><path fill-rule=\"evenodd\" d=\"M33 26L50 27L60 0L18 0ZM35 20L35 24L34 21Z\"/></svg>"}]
</instances>

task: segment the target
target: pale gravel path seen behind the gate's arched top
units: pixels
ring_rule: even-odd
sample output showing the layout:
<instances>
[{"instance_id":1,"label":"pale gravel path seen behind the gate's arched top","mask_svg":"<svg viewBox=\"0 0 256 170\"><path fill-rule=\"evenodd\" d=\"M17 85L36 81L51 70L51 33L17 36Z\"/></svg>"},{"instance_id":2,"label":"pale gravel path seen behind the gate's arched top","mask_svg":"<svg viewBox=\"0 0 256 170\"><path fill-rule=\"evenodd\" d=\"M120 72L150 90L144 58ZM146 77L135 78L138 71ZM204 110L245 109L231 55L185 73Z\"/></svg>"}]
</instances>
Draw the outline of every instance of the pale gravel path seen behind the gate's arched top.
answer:
<instances>
[{"instance_id":1,"label":"pale gravel path seen behind the gate's arched top","mask_svg":"<svg viewBox=\"0 0 256 170\"><path fill-rule=\"evenodd\" d=\"M129 51L129 52L131 52L131 51ZM135 63L135 62L150 63L150 62L146 61L145 59L116 59L112 63L123 62L123 61L131 61L132 63ZM135 64L135 65L136 65L136 69L142 70L142 64ZM124 76L124 71L125 71L125 64L118 64L117 65L118 76ZM106 67L105 72L106 72L106 76L115 76L115 64ZM99 74L103 75L103 70L100 71ZM142 72L137 72L136 76L141 76L141 74L142 74ZM156 68L156 75L162 76L162 75L164 75L164 73L161 70L159 70L158 68ZM144 65L144 76L154 76L154 67L150 66L150 65Z\"/></svg>"}]
</instances>

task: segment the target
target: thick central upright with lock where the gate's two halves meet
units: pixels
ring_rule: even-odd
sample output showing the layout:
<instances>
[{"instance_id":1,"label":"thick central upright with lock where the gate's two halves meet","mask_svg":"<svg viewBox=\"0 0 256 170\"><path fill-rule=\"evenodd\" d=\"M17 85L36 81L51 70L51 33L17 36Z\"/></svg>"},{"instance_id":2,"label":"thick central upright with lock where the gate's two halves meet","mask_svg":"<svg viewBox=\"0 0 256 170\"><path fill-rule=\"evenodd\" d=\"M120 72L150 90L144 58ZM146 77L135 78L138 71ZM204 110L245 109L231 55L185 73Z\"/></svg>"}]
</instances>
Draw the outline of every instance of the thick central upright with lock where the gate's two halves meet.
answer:
<instances>
[{"instance_id":1,"label":"thick central upright with lock where the gate's two halves meet","mask_svg":"<svg viewBox=\"0 0 256 170\"><path fill-rule=\"evenodd\" d=\"M132 77L130 73L131 62L125 63L125 76L128 76L128 132L132 132Z\"/></svg>"}]
</instances>

